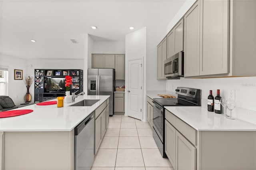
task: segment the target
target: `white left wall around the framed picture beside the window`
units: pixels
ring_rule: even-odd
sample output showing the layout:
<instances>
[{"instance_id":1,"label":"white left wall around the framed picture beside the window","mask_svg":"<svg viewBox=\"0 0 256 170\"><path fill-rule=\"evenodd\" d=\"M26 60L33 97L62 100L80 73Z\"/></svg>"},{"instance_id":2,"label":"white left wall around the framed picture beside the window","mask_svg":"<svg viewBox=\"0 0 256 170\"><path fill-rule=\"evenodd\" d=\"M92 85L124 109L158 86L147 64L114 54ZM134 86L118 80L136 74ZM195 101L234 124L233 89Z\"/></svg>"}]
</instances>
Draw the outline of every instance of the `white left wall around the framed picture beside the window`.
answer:
<instances>
[{"instance_id":1,"label":"white left wall around the framed picture beside the window","mask_svg":"<svg viewBox=\"0 0 256 170\"><path fill-rule=\"evenodd\" d=\"M15 104L24 103L27 88L23 80L14 80L14 69L22 70L23 78L27 75L34 76L27 71L29 67L27 60L2 54L0 56L0 65L8 67L8 96L12 98ZM30 93L32 93L32 87L30 87Z\"/></svg>"}]
</instances>

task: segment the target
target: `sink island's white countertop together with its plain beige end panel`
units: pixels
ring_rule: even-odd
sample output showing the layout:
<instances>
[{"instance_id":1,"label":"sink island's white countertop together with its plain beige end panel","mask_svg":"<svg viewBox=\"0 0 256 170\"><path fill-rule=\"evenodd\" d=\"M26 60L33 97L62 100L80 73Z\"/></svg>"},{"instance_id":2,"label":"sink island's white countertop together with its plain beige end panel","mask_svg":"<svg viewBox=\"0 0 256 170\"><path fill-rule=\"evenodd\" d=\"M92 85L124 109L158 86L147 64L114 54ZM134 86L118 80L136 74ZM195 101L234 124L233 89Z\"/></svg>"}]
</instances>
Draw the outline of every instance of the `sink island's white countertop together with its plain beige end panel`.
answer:
<instances>
[{"instance_id":1,"label":"sink island's white countertop together with its plain beige end panel","mask_svg":"<svg viewBox=\"0 0 256 170\"><path fill-rule=\"evenodd\" d=\"M0 168L74 170L74 128L109 97L80 95L75 103L83 99L100 101L90 107L70 107L74 103L64 103L60 108L30 105L22 109L32 109L32 113L1 118Z\"/></svg>"}]
</instances>

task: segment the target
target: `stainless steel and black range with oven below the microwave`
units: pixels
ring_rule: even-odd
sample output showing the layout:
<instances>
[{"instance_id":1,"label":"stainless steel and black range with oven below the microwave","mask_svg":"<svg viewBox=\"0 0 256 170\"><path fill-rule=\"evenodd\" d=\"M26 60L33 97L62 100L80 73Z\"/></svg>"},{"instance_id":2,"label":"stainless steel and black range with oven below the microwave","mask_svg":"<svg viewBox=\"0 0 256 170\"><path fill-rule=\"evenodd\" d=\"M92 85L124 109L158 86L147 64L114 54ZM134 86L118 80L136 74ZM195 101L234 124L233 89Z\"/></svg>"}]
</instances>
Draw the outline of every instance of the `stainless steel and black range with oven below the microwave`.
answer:
<instances>
[{"instance_id":1,"label":"stainless steel and black range with oven below the microwave","mask_svg":"<svg viewBox=\"0 0 256 170\"><path fill-rule=\"evenodd\" d=\"M153 99L153 137L163 157L167 157L164 148L164 106L201 106L200 89L177 87L176 99Z\"/></svg>"}]
</instances>

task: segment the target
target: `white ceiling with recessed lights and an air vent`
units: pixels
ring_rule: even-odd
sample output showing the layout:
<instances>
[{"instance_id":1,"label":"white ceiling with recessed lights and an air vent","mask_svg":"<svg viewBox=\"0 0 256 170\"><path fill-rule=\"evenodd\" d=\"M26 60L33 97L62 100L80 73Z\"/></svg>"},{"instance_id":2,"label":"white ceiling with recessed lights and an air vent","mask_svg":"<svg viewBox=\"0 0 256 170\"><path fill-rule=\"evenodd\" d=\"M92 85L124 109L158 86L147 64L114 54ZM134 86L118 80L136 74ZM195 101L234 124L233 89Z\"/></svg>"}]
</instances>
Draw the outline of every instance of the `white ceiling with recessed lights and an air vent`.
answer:
<instances>
[{"instance_id":1,"label":"white ceiling with recessed lights and an air vent","mask_svg":"<svg viewBox=\"0 0 256 170\"><path fill-rule=\"evenodd\" d=\"M184 2L0 0L0 53L26 59L81 59L86 34L94 41L124 42L126 34L145 26L166 28ZM130 26L135 29L129 30Z\"/></svg>"}]
</instances>

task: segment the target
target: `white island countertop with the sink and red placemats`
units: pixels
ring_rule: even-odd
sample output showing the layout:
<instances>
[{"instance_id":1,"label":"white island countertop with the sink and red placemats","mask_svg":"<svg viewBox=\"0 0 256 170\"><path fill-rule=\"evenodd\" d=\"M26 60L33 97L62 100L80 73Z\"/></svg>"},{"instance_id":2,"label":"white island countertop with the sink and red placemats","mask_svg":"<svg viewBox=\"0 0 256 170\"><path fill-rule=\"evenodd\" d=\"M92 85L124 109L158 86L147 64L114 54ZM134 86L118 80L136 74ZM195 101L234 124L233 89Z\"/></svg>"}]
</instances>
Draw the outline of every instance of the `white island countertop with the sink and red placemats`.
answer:
<instances>
[{"instance_id":1,"label":"white island countertop with the sink and red placemats","mask_svg":"<svg viewBox=\"0 0 256 170\"><path fill-rule=\"evenodd\" d=\"M74 103L64 103L64 107L57 105L30 105L14 110L32 109L32 113L16 117L0 118L0 131L70 131L90 113L99 107L110 96L80 95L76 102L83 99L100 99L90 107L69 107ZM56 101L56 99L50 100Z\"/></svg>"}]
</instances>

